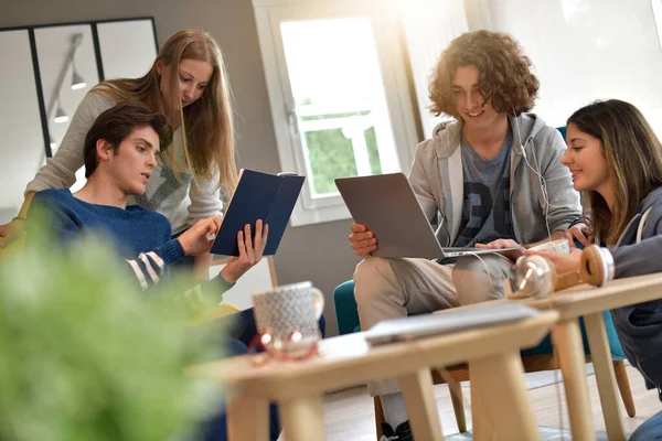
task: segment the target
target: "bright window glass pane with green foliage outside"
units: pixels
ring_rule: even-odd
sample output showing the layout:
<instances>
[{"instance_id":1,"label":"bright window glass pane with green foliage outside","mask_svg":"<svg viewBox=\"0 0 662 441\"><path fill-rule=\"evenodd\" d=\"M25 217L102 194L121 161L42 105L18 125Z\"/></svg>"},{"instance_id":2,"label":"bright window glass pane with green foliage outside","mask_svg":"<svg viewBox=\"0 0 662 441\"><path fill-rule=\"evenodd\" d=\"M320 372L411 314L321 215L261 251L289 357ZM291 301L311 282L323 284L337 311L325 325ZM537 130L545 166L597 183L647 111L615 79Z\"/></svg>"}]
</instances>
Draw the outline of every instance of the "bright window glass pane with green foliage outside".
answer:
<instances>
[{"instance_id":1,"label":"bright window glass pane with green foliage outside","mask_svg":"<svg viewBox=\"0 0 662 441\"><path fill-rule=\"evenodd\" d=\"M399 170L370 19L280 23L312 197L333 180Z\"/></svg>"}]
</instances>

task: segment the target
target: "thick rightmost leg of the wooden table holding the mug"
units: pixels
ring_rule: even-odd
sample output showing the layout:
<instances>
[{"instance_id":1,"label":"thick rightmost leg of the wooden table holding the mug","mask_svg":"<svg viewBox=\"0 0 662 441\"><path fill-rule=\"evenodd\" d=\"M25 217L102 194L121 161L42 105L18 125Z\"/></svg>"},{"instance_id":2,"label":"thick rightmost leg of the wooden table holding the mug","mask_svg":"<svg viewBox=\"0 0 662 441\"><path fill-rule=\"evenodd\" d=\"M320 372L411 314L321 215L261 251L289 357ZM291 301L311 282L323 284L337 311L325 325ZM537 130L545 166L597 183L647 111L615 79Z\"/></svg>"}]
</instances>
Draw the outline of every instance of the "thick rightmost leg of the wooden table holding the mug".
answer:
<instances>
[{"instance_id":1,"label":"thick rightmost leg of the wooden table holding the mug","mask_svg":"<svg viewBox=\"0 0 662 441\"><path fill-rule=\"evenodd\" d=\"M494 431L499 440L541 439L519 351L470 361L469 373L472 397L480 400L481 428Z\"/></svg>"}]
</instances>

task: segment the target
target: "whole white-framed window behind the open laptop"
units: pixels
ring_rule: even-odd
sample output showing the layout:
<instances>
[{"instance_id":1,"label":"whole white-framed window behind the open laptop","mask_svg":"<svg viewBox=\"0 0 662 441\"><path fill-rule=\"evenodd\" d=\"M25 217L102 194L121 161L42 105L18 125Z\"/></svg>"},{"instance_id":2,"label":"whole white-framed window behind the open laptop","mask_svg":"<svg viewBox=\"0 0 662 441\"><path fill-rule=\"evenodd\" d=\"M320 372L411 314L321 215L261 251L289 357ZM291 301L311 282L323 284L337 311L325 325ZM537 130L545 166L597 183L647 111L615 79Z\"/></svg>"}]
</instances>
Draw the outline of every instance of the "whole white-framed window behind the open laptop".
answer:
<instances>
[{"instance_id":1,"label":"whole white-framed window behind the open laptop","mask_svg":"<svg viewBox=\"0 0 662 441\"><path fill-rule=\"evenodd\" d=\"M386 7L384 6L386 4ZM418 141L391 2L254 0L293 226L350 217L335 178L408 172Z\"/></svg>"}]
</instances>

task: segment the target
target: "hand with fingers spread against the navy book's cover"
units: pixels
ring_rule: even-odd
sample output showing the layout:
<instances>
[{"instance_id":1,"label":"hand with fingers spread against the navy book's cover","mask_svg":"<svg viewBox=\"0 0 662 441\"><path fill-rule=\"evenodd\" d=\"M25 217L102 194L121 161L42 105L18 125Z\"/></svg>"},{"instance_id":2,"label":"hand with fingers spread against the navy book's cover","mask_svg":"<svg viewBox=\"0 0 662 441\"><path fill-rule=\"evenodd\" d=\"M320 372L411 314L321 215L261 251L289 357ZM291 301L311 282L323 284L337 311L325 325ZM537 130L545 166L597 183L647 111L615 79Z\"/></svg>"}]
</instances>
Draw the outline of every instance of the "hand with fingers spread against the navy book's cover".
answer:
<instances>
[{"instance_id":1,"label":"hand with fingers spread against the navy book's cover","mask_svg":"<svg viewBox=\"0 0 662 441\"><path fill-rule=\"evenodd\" d=\"M243 232L237 233L239 256L233 256L221 270L221 277L229 283L236 282L239 277L253 268L261 259L267 246L269 226L264 225L261 219L255 223L255 240L250 237L250 225L246 224Z\"/></svg>"}]
</instances>

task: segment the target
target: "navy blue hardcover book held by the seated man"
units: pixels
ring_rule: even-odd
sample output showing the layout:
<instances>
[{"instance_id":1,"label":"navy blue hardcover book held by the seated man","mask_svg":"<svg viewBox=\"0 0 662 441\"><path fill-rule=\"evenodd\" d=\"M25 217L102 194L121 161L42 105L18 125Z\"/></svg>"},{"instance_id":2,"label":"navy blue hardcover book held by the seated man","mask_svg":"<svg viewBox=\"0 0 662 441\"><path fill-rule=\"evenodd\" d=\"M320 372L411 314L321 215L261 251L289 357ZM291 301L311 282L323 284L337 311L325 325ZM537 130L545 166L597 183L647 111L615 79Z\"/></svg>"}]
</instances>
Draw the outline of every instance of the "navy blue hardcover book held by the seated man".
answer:
<instances>
[{"instance_id":1,"label":"navy blue hardcover book held by the seated man","mask_svg":"<svg viewBox=\"0 0 662 441\"><path fill-rule=\"evenodd\" d=\"M250 233L255 238L255 223L263 219L269 225L264 256L275 255L305 180L306 176L297 174L269 174L242 169L239 183L221 219L211 252L238 256L237 233L244 229L244 225L250 224Z\"/></svg>"}]
</instances>

